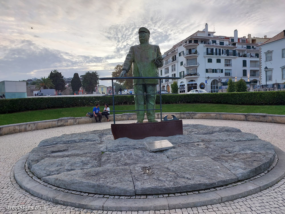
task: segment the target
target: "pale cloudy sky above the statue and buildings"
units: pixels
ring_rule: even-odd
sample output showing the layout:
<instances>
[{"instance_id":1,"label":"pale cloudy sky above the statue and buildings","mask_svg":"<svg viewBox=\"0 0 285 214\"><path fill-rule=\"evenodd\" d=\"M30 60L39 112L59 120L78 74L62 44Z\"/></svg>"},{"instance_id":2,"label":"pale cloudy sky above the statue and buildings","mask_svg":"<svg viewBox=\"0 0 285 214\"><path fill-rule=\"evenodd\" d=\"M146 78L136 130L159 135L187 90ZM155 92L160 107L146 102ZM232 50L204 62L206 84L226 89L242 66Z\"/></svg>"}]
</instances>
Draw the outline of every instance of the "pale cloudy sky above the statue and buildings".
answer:
<instances>
[{"instance_id":1,"label":"pale cloudy sky above the statue and buildings","mask_svg":"<svg viewBox=\"0 0 285 214\"><path fill-rule=\"evenodd\" d=\"M65 77L89 70L111 76L143 26L162 52L205 23L215 35L237 29L239 37L273 37L284 30L284 11L284 0L0 0L0 81L47 77L53 69Z\"/></svg>"}]
</instances>

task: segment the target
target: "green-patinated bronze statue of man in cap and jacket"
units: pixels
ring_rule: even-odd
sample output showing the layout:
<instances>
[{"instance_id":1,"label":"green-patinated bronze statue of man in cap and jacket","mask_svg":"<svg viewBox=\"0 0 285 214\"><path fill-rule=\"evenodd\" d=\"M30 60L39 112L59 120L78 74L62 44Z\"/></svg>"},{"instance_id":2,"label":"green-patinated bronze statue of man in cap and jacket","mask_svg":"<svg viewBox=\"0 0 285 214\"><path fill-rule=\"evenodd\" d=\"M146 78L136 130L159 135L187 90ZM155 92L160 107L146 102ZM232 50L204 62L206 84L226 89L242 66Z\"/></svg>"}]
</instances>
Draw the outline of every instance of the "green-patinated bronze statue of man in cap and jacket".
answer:
<instances>
[{"instance_id":1,"label":"green-patinated bronze statue of man in cap and jacket","mask_svg":"<svg viewBox=\"0 0 285 214\"><path fill-rule=\"evenodd\" d=\"M132 46L126 56L120 77L126 76L133 64L133 76L158 77L158 68L163 66L163 58L158 45L148 43L150 32L145 27L139 29L139 45ZM146 109L155 109L157 79L137 79L133 80L134 99L136 110L144 109L144 98ZM146 95L144 95L144 93ZM136 95L139 94L139 95ZM146 111L148 122L155 120L155 111ZM144 120L144 111L137 111L137 123Z\"/></svg>"}]
</instances>

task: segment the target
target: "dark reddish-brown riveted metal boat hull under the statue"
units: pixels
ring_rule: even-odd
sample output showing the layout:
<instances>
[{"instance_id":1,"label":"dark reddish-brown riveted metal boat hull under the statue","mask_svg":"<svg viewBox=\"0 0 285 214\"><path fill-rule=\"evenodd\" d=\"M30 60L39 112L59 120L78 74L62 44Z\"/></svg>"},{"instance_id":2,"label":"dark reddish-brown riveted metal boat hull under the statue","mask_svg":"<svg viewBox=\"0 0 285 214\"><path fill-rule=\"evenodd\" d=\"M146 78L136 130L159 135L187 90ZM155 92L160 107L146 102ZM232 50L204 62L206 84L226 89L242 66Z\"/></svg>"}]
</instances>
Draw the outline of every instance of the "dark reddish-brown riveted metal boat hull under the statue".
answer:
<instances>
[{"instance_id":1,"label":"dark reddish-brown riveted metal boat hull under the statue","mask_svg":"<svg viewBox=\"0 0 285 214\"><path fill-rule=\"evenodd\" d=\"M183 134L182 120L155 123L111 124L114 139L130 138L134 140L152 136L168 137Z\"/></svg>"}]
</instances>

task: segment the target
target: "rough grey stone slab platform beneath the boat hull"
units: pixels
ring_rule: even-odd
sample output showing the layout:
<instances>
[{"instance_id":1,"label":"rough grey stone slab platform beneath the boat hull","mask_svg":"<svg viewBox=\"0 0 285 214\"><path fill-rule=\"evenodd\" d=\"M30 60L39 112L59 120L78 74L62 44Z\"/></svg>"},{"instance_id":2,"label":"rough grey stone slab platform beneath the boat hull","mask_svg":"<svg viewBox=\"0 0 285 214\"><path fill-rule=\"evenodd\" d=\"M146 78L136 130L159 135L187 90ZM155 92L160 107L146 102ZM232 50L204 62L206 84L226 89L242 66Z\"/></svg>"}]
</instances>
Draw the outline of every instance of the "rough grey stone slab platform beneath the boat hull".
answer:
<instances>
[{"instance_id":1,"label":"rough grey stone slab platform beneath the boat hull","mask_svg":"<svg viewBox=\"0 0 285 214\"><path fill-rule=\"evenodd\" d=\"M110 195L207 189L266 170L274 147L237 128L184 125L184 135L113 140L110 130L62 135L40 142L30 170L52 185ZM144 142L168 140L174 148L148 152Z\"/></svg>"}]
</instances>

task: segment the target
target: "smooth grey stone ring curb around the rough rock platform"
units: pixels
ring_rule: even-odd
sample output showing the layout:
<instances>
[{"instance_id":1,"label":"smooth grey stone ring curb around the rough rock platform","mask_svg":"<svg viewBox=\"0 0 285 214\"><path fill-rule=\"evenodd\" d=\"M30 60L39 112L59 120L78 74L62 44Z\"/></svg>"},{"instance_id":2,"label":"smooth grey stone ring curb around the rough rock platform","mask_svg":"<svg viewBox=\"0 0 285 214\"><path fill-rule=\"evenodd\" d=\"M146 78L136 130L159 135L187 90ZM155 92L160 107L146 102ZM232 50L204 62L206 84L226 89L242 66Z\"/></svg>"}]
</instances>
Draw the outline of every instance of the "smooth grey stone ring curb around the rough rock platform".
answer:
<instances>
[{"instance_id":1,"label":"smooth grey stone ring curb around the rough rock platform","mask_svg":"<svg viewBox=\"0 0 285 214\"><path fill-rule=\"evenodd\" d=\"M25 162L27 161L29 154L21 157L15 164L14 177L20 187L32 195L46 201L64 204L71 207L109 211L147 211L200 207L225 201L232 201L247 195L255 194L280 181L285 176L285 153L276 146L274 146L274 149L279 159L276 166L271 171L257 179L213 192L168 198L107 199L64 193L34 181L26 173Z\"/></svg>"}]
</instances>

